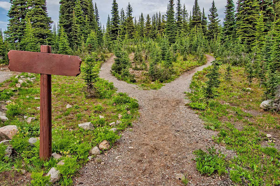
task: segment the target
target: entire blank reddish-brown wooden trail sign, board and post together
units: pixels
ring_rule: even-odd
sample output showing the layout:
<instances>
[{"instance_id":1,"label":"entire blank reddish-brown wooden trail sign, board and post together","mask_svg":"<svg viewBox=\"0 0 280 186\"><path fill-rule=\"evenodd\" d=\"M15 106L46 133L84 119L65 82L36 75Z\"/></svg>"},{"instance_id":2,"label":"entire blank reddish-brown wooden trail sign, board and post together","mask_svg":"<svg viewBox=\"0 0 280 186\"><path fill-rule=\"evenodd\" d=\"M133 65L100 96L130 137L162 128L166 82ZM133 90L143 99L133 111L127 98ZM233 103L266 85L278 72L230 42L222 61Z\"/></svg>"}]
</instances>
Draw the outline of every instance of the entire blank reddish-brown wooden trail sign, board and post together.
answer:
<instances>
[{"instance_id":1,"label":"entire blank reddish-brown wooden trail sign, board and post together","mask_svg":"<svg viewBox=\"0 0 280 186\"><path fill-rule=\"evenodd\" d=\"M40 73L40 159L51 157L51 75L78 76L82 60L78 56L51 54L51 46L41 52L11 50L9 69L14 72Z\"/></svg>"}]
</instances>

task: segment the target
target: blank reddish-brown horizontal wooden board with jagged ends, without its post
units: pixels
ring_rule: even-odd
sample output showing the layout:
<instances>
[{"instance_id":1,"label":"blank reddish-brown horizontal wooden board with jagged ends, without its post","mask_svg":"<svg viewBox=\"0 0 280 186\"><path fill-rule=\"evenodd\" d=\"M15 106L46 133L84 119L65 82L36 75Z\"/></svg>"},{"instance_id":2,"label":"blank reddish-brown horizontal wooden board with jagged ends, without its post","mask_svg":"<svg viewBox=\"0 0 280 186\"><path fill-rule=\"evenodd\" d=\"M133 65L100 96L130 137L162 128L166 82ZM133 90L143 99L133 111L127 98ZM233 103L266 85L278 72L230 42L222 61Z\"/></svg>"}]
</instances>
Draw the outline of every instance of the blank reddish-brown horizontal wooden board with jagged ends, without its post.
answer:
<instances>
[{"instance_id":1,"label":"blank reddish-brown horizontal wooden board with jagged ends, without its post","mask_svg":"<svg viewBox=\"0 0 280 186\"><path fill-rule=\"evenodd\" d=\"M42 47L41 47L42 49ZM43 47L45 52L48 49ZM11 50L9 69L14 72L78 76L82 60L78 56Z\"/></svg>"}]
</instances>

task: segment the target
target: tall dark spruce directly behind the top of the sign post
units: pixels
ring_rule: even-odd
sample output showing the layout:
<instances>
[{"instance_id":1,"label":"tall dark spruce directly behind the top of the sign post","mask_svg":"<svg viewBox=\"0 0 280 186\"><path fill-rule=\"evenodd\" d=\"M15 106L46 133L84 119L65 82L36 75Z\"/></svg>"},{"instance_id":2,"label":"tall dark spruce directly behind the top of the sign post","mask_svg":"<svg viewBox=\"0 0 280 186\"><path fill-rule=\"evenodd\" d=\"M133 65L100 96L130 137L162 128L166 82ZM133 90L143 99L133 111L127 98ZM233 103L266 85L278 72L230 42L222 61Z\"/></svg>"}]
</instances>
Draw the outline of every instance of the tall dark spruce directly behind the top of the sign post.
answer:
<instances>
[{"instance_id":1,"label":"tall dark spruce directly behind the top of the sign post","mask_svg":"<svg viewBox=\"0 0 280 186\"><path fill-rule=\"evenodd\" d=\"M29 11L27 16L30 18L34 29L34 36L40 45L48 44L51 39L51 17L47 13L46 0L29 0Z\"/></svg>"}]
</instances>

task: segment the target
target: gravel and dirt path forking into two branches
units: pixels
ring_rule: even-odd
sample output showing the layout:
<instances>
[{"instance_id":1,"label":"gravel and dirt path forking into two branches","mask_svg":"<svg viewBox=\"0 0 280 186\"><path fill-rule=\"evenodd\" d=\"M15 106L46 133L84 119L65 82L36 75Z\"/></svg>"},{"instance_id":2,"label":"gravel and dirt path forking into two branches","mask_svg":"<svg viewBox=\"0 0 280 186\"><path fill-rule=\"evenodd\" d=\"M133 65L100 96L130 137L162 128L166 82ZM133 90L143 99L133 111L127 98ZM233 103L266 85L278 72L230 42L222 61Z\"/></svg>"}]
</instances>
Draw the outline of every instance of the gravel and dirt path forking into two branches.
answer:
<instances>
[{"instance_id":1,"label":"gravel and dirt path forking into two branches","mask_svg":"<svg viewBox=\"0 0 280 186\"><path fill-rule=\"evenodd\" d=\"M195 111L185 106L184 92L190 91L192 76L213 60L207 55L207 64L184 73L160 90L140 90L111 75L114 58L110 58L101 67L100 76L138 100L140 118L132 129L122 133L116 149L98 157L104 165L92 161L82 169L76 185L182 185L175 179L177 173L187 175L189 185L229 185L226 178L204 177L197 172L192 152L213 145L211 136L216 132L206 130ZM117 156L121 157L116 160Z\"/></svg>"}]
</instances>

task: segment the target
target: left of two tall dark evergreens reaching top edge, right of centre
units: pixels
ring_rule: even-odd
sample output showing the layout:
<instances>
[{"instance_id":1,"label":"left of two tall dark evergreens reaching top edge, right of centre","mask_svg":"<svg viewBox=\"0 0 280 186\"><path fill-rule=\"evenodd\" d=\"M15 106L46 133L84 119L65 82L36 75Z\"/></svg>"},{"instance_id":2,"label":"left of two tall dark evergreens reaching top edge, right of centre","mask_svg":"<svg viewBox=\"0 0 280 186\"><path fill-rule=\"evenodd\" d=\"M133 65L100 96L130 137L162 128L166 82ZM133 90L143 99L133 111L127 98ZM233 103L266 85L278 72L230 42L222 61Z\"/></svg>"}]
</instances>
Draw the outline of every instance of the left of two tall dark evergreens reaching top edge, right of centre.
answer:
<instances>
[{"instance_id":1,"label":"left of two tall dark evergreens reaching top edge, right of centre","mask_svg":"<svg viewBox=\"0 0 280 186\"><path fill-rule=\"evenodd\" d=\"M168 38L170 43L175 43L176 39L176 24L175 24L175 12L174 12L174 4L173 0L169 0L169 6L167 11L167 20L166 20L166 26L165 26L165 34Z\"/></svg>"}]
</instances>

